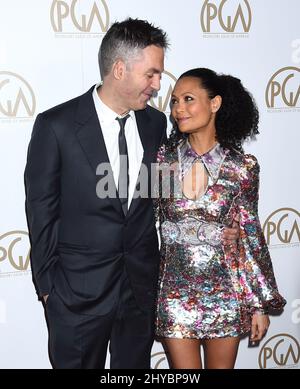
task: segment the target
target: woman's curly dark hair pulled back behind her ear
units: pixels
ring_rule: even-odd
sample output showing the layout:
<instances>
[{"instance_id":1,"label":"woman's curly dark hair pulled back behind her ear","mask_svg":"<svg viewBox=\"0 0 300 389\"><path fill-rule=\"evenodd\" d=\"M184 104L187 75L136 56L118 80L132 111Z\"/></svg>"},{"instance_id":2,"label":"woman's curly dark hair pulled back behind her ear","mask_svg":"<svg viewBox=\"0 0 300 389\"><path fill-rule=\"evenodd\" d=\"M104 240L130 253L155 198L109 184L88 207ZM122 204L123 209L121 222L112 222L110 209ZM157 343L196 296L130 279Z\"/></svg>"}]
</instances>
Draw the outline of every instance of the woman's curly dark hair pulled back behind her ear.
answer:
<instances>
[{"instance_id":1,"label":"woman's curly dark hair pulled back behind her ear","mask_svg":"<svg viewBox=\"0 0 300 389\"><path fill-rule=\"evenodd\" d=\"M200 87L206 89L210 99L217 95L222 97L221 107L216 113L216 140L224 148L243 152L244 140L259 134L259 113L253 96L241 80L206 68L188 70L178 80L185 77L198 78ZM174 150L187 136L174 124L166 147Z\"/></svg>"}]
</instances>

